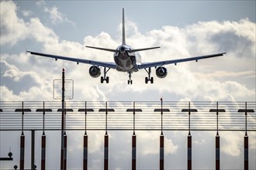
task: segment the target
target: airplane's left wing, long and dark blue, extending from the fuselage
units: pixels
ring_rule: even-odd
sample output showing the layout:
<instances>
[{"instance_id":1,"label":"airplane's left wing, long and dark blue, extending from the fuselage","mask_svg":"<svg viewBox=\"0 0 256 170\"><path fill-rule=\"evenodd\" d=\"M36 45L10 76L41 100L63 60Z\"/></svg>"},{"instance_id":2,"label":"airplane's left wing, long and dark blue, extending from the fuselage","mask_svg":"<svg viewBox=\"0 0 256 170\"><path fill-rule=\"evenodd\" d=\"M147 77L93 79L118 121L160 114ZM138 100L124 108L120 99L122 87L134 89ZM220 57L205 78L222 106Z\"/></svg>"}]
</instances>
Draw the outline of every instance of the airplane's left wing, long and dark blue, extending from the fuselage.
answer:
<instances>
[{"instance_id":1,"label":"airplane's left wing, long and dark blue, extending from the fuselage","mask_svg":"<svg viewBox=\"0 0 256 170\"><path fill-rule=\"evenodd\" d=\"M64 60L72 61L72 62L76 62L76 63L86 63L86 64L90 64L93 66L103 66L103 67L107 67L110 69L116 69L116 63L100 62L100 61L94 61L94 60L90 60L90 59L71 58L71 57L67 57L67 56L55 56L55 55L51 55L51 54L47 54L47 53L37 53L37 52L33 52L33 51L26 51L26 53L30 53L30 54L33 54L36 56L46 56L49 58L54 58L55 60L64 59Z\"/></svg>"}]
</instances>

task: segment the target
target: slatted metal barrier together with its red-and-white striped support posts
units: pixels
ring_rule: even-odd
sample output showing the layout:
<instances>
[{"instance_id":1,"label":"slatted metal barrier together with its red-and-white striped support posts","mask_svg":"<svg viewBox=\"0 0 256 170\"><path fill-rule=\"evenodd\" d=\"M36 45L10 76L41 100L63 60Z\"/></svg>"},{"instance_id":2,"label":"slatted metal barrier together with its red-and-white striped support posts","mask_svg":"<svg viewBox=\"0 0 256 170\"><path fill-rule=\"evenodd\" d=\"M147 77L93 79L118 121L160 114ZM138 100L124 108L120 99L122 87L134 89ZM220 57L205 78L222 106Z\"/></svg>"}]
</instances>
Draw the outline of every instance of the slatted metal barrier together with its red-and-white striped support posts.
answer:
<instances>
[{"instance_id":1,"label":"slatted metal barrier together with its red-and-white striped support posts","mask_svg":"<svg viewBox=\"0 0 256 170\"><path fill-rule=\"evenodd\" d=\"M67 135L65 131L85 131L83 169L88 169L86 131L106 131L104 169L109 169L108 131L133 131L132 169L136 170L135 131L161 131L159 169L164 170L163 131L189 131L187 169L192 169L192 135L190 131L216 131L216 170L220 170L219 131L245 131L244 169L249 169L247 131L256 131L256 102L0 102L0 131L22 131L19 168L24 169L25 135L31 131L31 169L35 165L35 131L43 131L41 169L46 169L46 135L44 131L63 131L61 169L67 169ZM64 127L63 127L64 125ZM62 141L61 141L62 143ZM1 161L12 161L0 158ZM17 165L14 166L18 168Z\"/></svg>"}]
</instances>

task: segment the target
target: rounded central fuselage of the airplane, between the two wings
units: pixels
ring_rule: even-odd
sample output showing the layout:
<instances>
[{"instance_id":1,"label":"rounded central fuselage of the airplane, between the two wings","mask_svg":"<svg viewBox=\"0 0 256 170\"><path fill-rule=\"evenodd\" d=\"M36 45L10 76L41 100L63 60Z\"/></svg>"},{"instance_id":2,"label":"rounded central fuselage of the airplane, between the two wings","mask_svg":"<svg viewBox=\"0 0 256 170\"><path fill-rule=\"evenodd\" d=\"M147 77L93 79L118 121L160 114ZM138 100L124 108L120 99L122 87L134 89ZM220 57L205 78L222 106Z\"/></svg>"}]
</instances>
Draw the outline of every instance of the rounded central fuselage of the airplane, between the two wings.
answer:
<instances>
[{"instance_id":1,"label":"rounded central fuselage of the airplane, between the two wings","mask_svg":"<svg viewBox=\"0 0 256 170\"><path fill-rule=\"evenodd\" d=\"M141 63L141 57L137 52L130 53L129 51L132 49L128 45L121 45L116 48L116 53L114 53L116 70L128 73L139 70L138 65Z\"/></svg>"}]
</instances>

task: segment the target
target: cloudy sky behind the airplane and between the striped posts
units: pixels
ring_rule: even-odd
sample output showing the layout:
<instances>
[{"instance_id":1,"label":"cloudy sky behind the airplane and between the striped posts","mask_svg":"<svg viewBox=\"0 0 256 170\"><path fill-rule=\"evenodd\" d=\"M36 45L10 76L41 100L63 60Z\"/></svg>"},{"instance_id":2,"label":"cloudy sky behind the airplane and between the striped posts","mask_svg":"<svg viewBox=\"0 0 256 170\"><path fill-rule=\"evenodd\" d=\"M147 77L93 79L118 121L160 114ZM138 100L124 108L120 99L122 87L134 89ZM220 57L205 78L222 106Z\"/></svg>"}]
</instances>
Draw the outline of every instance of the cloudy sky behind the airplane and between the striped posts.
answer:
<instances>
[{"instance_id":1,"label":"cloudy sky behind the airplane and between the striped posts","mask_svg":"<svg viewBox=\"0 0 256 170\"><path fill-rule=\"evenodd\" d=\"M255 101L255 1L1 1L0 3L0 98L2 101L54 100L53 81L61 78L63 67L66 70L66 77L74 80L73 100L156 101L163 97L164 100L175 101ZM133 85L127 84L127 73L109 70L107 73L109 84L101 84L99 78L89 76L88 65L60 60L55 62L54 59L26 54L26 49L29 49L82 59L112 61L112 53L86 49L85 46L111 49L119 46L122 8L125 8L128 45L133 48L161 46L161 49L141 52L142 62L211 53L227 52L227 54L214 59L200 60L198 63L166 66L168 76L164 79L157 78L153 69L154 84L144 83L147 73L141 70L133 73ZM13 141L11 137L13 135L1 133L0 145L4 148ZM80 132L70 135L76 134L80 135ZM209 148L213 140L209 141L207 137L214 135L202 134L205 132L195 133L195 138L199 138L199 141L204 140L204 147ZM54 134L49 135L54 138ZM103 135L103 132L92 133L92 139L100 138L102 143L95 144L95 149L91 151L93 155L91 169L102 168L97 155L101 155L102 149L99 148L103 147ZM125 143L128 138L130 140L129 133L113 132L112 141L120 135L122 142ZM152 131L140 133L138 134L140 144L149 140L157 143L158 135ZM243 135L240 132L228 132L226 135L224 146L233 147L221 150L224 155L222 168L243 168L243 164L237 161L243 158L240 139L237 139L237 136L242 138ZM177 158L177 161L178 158L185 158L186 134L170 132L166 136L168 144L176 148L169 151L168 155ZM252 132L251 137L250 153L253 160L256 134ZM19 134L16 134L16 138L19 138ZM71 144L78 145L78 141L74 139ZM12 145L12 148L19 147L18 144ZM116 143L115 145L118 146L117 148L123 147ZM78 145L79 147L81 145ZM71 147L69 154L71 155L72 151L77 151L78 148ZM151 165L148 162L158 158L157 152L145 149L145 152L144 148L143 151L138 151L141 162L138 168L156 168L157 164ZM130 151L130 147L121 151L114 150L119 162L123 164L112 162L110 168L126 169L127 166L129 168L125 163L128 156L122 155L127 150ZM1 149L2 155L5 154ZM206 159L213 156L208 154ZM56 158L58 161L59 156ZM225 161L232 162L232 165L225 164ZM69 165L71 169L78 168L74 163ZM199 161L194 166L201 169L214 168L213 164L205 165ZM10 163L1 162L0 168L9 167ZM251 161L250 168L255 167L255 163ZM58 164L52 163L48 168L58 168ZM185 164L175 165L174 168L183 169Z\"/></svg>"}]
</instances>

